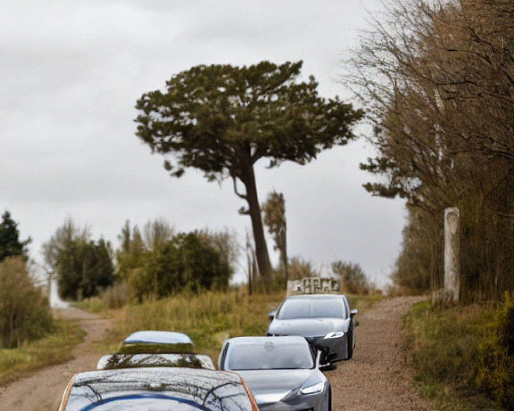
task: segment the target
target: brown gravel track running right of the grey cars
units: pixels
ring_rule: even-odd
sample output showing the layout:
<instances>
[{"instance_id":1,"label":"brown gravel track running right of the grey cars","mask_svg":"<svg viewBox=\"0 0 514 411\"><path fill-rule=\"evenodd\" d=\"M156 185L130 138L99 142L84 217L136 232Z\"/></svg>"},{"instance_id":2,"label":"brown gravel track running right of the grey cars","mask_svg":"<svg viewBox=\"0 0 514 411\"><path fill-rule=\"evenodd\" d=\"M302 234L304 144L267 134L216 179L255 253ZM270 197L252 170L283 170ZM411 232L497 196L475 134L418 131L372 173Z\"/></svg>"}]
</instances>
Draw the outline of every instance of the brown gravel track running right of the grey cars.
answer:
<instances>
[{"instance_id":1,"label":"brown gravel track running right of the grey cars","mask_svg":"<svg viewBox=\"0 0 514 411\"><path fill-rule=\"evenodd\" d=\"M352 360L326 372L333 411L434 410L412 387L401 349L401 316L418 301L419 297L387 298L357 315Z\"/></svg>"}]
</instances>

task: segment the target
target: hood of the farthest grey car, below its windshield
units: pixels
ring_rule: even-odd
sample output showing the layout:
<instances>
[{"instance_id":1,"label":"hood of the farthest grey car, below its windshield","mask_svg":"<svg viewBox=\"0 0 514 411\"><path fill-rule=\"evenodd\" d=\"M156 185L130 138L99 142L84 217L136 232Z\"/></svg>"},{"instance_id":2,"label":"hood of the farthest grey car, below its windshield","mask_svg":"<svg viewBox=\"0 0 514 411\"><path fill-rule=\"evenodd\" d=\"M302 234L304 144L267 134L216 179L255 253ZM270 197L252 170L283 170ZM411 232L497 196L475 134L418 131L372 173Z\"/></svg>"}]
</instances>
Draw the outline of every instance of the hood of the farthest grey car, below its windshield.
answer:
<instances>
[{"instance_id":1,"label":"hood of the farthest grey car, below its windshield","mask_svg":"<svg viewBox=\"0 0 514 411\"><path fill-rule=\"evenodd\" d=\"M268 334L303 335L303 337L320 337L331 331L347 332L350 320L337 318L308 318L294 320L273 320Z\"/></svg>"}]
</instances>

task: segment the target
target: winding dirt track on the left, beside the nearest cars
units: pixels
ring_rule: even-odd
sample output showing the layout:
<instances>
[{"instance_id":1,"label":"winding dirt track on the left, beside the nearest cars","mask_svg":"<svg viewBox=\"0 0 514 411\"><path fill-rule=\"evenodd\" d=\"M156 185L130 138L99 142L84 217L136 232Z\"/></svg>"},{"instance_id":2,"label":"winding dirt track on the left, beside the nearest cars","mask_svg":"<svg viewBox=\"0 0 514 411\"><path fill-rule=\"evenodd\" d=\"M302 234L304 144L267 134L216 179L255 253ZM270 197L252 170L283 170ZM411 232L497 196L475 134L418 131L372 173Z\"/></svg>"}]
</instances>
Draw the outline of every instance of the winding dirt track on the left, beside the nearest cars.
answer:
<instances>
[{"instance_id":1,"label":"winding dirt track on the left, beside the nearest cars","mask_svg":"<svg viewBox=\"0 0 514 411\"><path fill-rule=\"evenodd\" d=\"M99 354L92 345L102 340L110 322L72 307L59 310L59 315L77 319L87 333L84 341L74 349L74 359L0 387L0 411L56 411L71 376L96 368Z\"/></svg>"}]
</instances>

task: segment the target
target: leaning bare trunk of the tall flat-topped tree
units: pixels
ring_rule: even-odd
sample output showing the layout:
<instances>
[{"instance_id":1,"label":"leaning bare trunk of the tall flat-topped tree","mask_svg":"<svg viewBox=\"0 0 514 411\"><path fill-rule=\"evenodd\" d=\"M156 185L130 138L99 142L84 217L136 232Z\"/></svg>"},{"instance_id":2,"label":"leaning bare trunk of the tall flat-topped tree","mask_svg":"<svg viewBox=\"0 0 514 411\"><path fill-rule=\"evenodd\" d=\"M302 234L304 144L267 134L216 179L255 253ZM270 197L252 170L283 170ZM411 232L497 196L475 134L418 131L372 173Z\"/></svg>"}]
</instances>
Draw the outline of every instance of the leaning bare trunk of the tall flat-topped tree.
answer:
<instances>
[{"instance_id":1,"label":"leaning bare trunk of the tall flat-topped tree","mask_svg":"<svg viewBox=\"0 0 514 411\"><path fill-rule=\"evenodd\" d=\"M248 214L252 220L253 240L255 241L255 255L259 274L266 282L271 273L271 263L269 261L268 248L266 247L266 237L264 236L264 226L262 223L261 206L257 196L257 186L255 184L255 174L253 165L250 165L245 173L243 180L246 188L246 200L248 201Z\"/></svg>"}]
</instances>

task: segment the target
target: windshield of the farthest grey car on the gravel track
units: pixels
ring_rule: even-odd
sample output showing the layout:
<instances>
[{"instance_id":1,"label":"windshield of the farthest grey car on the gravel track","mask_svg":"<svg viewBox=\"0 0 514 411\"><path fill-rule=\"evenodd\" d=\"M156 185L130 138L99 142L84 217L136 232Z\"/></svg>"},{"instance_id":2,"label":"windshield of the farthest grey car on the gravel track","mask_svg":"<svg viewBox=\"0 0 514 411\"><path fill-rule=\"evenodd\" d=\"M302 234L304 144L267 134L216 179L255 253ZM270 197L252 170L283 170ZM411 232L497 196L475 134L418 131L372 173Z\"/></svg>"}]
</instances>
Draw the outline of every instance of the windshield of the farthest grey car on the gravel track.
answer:
<instances>
[{"instance_id":1,"label":"windshield of the farthest grey car on the gravel track","mask_svg":"<svg viewBox=\"0 0 514 411\"><path fill-rule=\"evenodd\" d=\"M277 314L278 320L344 317L341 298L289 298Z\"/></svg>"}]
</instances>

